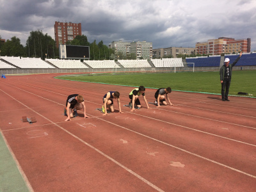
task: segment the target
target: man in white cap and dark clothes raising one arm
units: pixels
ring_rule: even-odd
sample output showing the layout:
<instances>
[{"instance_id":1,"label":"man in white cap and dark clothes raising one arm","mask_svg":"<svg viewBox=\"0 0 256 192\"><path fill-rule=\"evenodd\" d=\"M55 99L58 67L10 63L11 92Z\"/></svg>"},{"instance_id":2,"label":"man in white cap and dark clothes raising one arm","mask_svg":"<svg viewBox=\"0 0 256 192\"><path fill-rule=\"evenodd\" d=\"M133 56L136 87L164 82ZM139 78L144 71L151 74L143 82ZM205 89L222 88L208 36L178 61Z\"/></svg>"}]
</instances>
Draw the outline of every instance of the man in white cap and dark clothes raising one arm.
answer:
<instances>
[{"instance_id":1,"label":"man in white cap and dark clothes raising one arm","mask_svg":"<svg viewBox=\"0 0 256 192\"><path fill-rule=\"evenodd\" d=\"M241 58L243 52L240 52L238 58L229 65L230 60L228 58L225 59L225 64L220 68L220 83L221 83L221 97L222 100L228 100L228 92L229 86L231 83L231 76L232 76L232 68L236 65L237 61Z\"/></svg>"}]
</instances>

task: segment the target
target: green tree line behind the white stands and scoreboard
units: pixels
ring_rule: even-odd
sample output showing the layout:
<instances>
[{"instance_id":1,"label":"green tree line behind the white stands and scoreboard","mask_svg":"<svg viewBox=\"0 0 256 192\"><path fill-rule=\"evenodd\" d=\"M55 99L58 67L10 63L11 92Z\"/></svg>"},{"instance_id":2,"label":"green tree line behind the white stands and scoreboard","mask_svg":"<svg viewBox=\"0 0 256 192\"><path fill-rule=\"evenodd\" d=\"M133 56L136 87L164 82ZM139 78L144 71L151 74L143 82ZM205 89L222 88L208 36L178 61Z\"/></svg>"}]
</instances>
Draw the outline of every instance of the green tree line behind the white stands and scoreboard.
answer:
<instances>
[{"instance_id":1,"label":"green tree line behind the white stands and scoreboard","mask_svg":"<svg viewBox=\"0 0 256 192\"><path fill-rule=\"evenodd\" d=\"M1 38L1 35L0 35ZM72 41L68 41L67 45L90 46L90 60L115 60L115 52L113 49L104 45L101 40L98 44L96 40L92 43L88 42L85 35L77 35ZM42 31L31 31L26 45L20 44L20 39L13 36L11 40L0 44L1 56L20 56L29 58L59 58L59 49L56 47L55 40L51 36L44 35Z\"/></svg>"}]
</instances>

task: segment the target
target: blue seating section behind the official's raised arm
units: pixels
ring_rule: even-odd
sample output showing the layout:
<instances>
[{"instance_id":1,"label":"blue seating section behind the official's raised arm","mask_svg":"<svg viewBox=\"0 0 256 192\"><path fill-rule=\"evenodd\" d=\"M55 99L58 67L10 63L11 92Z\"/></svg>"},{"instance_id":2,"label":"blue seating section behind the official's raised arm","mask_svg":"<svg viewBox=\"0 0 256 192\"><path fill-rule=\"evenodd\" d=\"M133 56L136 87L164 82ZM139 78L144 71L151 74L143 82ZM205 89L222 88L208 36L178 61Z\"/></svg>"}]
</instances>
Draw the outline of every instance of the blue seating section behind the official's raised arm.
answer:
<instances>
[{"instance_id":1,"label":"blue seating section behind the official's raised arm","mask_svg":"<svg viewBox=\"0 0 256 192\"><path fill-rule=\"evenodd\" d=\"M227 54L225 58L229 58L230 63L233 63L236 58L238 57L237 54ZM251 66L256 65L256 52L253 53L244 53L240 60L237 61L236 66Z\"/></svg>"}]
</instances>

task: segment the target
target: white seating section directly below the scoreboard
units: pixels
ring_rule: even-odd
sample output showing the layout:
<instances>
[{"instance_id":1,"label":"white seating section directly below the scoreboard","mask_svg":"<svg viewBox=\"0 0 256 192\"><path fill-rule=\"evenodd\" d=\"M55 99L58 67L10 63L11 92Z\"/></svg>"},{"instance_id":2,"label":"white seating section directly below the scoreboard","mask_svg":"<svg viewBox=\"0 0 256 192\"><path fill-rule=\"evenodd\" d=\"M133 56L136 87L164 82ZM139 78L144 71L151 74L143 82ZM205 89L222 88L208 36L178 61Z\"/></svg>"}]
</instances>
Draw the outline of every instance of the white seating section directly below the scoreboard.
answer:
<instances>
[{"instance_id":1,"label":"white seating section directly below the scoreboard","mask_svg":"<svg viewBox=\"0 0 256 192\"><path fill-rule=\"evenodd\" d=\"M52 65L58 68L88 68L80 60L46 59L46 61L52 63Z\"/></svg>"}]
</instances>

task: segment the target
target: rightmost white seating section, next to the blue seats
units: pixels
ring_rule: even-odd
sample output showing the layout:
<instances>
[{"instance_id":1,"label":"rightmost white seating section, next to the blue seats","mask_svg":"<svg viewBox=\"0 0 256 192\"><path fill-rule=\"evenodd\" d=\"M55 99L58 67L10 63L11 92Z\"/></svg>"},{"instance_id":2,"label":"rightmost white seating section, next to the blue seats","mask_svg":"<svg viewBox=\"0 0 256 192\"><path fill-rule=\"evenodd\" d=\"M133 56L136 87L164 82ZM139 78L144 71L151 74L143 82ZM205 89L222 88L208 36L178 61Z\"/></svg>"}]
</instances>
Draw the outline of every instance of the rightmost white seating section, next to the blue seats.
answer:
<instances>
[{"instance_id":1,"label":"rightmost white seating section, next to the blue seats","mask_svg":"<svg viewBox=\"0 0 256 192\"><path fill-rule=\"evenodd\" d=\"M151 61L155 67L184 67L182 58L152 59Z\"/></svg>"}]
</instances>

